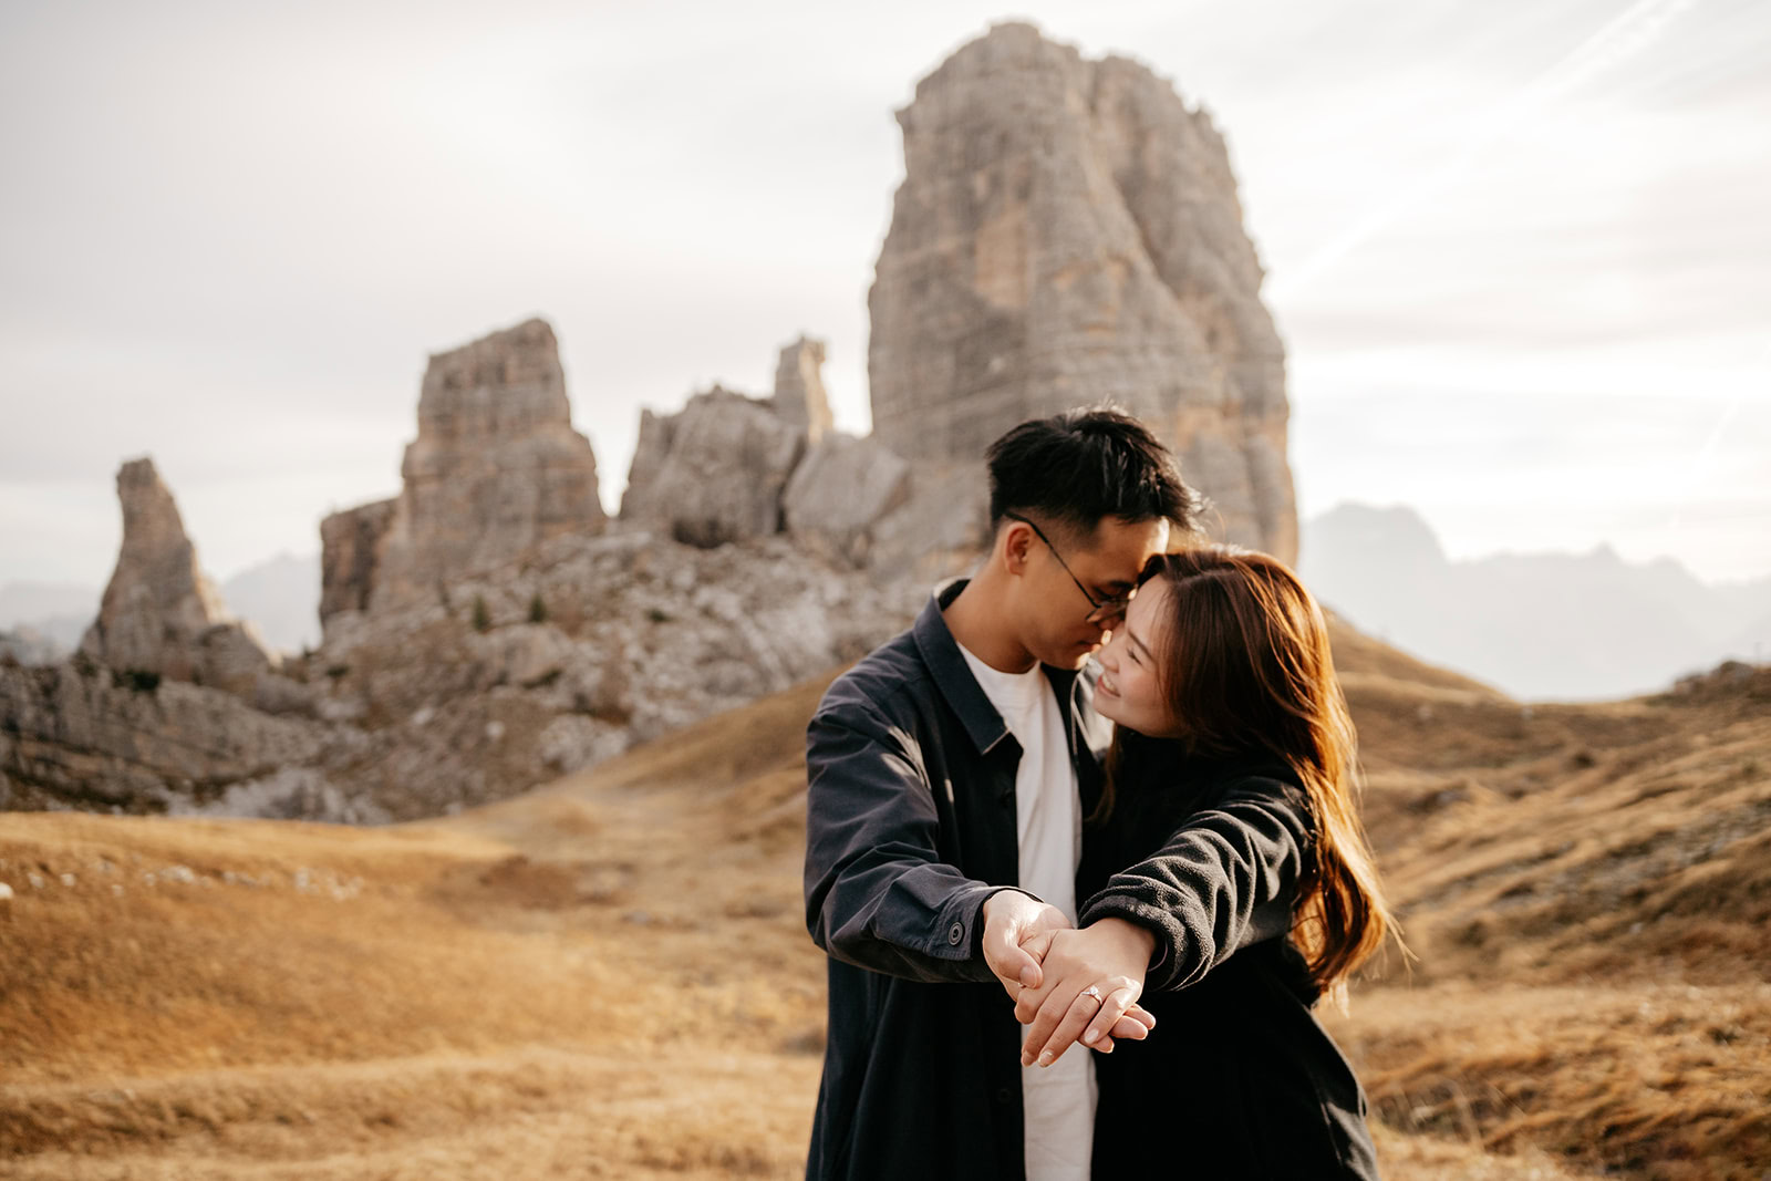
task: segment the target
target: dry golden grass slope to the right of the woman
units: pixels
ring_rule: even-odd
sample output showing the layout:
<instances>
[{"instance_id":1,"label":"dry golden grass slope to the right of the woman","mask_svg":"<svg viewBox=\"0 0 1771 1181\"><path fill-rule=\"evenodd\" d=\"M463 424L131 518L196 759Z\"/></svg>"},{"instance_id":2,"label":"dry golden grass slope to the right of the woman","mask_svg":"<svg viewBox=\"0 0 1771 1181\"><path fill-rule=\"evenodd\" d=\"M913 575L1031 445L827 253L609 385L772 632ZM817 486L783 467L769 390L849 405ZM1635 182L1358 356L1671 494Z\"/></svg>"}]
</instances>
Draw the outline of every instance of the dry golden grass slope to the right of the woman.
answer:
<instances>
[{"instance_id":1,"label":"dry golden grass slope to the right of the woman","mask_svg":"<svg viewBox=\"0 0 1771 1181\"><path fill-rule=\"evenodd\" d=\"M1771 1170L1771 669L1592 706L1355 694L1408 940L1330 1020L1392 1128Z\"/></svg>"}]
</instances>

